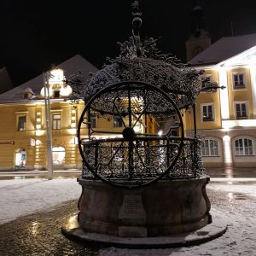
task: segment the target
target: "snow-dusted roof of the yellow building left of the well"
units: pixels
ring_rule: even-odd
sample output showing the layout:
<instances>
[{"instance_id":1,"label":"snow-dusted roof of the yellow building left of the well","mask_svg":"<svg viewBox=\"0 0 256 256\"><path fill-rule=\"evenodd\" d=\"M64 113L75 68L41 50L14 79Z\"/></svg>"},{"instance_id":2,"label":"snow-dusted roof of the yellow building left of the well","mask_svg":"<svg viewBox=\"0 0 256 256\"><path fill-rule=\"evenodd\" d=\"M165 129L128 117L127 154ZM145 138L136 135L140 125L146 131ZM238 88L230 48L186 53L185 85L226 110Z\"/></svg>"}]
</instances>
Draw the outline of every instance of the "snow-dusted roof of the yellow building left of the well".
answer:
<instances>
[{"instance_id":1,"label":"snow-dusted roof of the yellow building left of the well","mask_svg":"<svg viewBox=\"0 0 256 256\"><path fill-rule=\"evenodd\" d=\"M61 68L64 70L64 75L68 79L70 75L81 72L84 79L89 79L90 73L96 73L98 70L89 61L86 61L81 55L74 55L67 61L56 65L54 68ZM28 102L29 100L24 98L24 93L27 90L32 91L34 95L40 95L40 91L44 87L44 75L43 72L38 77L27 81L24 84L20 84L12 90L9 90L0 95L0 104L7 102ZM29 101L31 102L31 101Z\"/></svg>"}]
</instances>

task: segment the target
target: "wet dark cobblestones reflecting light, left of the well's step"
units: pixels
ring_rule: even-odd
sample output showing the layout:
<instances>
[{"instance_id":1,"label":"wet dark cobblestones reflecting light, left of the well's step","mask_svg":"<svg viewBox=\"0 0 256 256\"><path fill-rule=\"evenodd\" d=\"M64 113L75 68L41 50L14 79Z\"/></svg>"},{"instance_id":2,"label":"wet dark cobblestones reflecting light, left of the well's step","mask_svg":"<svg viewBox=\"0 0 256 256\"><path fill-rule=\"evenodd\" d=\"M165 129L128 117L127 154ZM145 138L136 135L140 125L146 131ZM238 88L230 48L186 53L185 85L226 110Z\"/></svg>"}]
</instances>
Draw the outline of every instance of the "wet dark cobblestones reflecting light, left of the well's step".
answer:
<instances>
[{"instance_id":1,"label":"wet dark cobblestones reflecting light, left of the well's step","mask_svg":"<svg viewBox=\"0 0 256 256\"><path fill-rule=\"evenodd\" d=\"M61 225L77 211L77 201L27 215L0 226L0 255L96 255L99 249L68 240Z\"/></svg>"}]
</instances>

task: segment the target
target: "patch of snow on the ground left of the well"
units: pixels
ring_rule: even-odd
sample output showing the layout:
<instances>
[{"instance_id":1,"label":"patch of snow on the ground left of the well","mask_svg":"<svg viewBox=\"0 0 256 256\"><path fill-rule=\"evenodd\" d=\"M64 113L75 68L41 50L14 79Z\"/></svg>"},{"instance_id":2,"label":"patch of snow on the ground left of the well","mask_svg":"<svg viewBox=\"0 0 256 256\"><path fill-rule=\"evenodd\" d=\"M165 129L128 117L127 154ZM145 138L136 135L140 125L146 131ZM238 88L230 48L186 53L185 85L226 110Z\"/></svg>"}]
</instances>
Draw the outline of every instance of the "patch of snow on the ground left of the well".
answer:
<instances>
[{"instance_id":1,"label":"patch of snow on the ground left of the well","mask_svg":"<svg viewBox=\"0 0 256 256\"><path fill-rule=\"evenodd\" d=\"M0 224L79 199L79 195L81 186L76 178L0 180Z\"/></svg>"}]
</instances>

